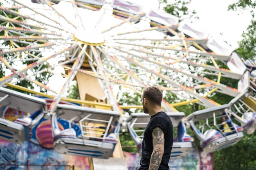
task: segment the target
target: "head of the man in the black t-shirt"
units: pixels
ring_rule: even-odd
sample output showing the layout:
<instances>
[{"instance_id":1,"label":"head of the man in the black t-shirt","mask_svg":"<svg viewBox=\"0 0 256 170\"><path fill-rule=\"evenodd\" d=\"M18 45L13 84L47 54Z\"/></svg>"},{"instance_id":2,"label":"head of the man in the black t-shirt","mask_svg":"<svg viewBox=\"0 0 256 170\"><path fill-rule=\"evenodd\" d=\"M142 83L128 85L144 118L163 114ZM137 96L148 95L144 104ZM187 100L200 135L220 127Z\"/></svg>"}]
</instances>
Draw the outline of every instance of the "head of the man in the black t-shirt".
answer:
<instances>
[{"instance_id":1,"label":"head of the man in the black t-shirt","mask_svg":"<svg viewBox=\"0 0 256 170\"><path fill-rule=\"evenodd\" d=\"M144 113L149 113L149 107L161 107L163 94L158 87L149 86L143 90L142 93L142 106ZM146 104L145 100L146 99Z\"/></svg>"}]
</instances>

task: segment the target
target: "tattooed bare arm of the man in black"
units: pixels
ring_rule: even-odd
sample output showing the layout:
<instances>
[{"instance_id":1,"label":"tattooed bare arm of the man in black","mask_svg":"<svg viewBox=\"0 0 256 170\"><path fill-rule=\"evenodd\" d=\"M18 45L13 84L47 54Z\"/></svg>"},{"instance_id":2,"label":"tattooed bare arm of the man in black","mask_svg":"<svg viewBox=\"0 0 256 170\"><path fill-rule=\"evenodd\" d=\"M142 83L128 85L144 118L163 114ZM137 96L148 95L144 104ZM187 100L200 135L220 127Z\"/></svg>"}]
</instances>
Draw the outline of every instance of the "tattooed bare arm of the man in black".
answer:
<instances>
[{"instance_id":1,"label":"tattooed bare arm of the man in black","mask_svg":"<svg viewBox=\"0 0 256 170\"><path fill-rule=\"evenodd\" d=\"M150 158L148 170L158 170L164 155L164 132L157 126L153 129L153 152Z\"/></svg>"}]
</instances>

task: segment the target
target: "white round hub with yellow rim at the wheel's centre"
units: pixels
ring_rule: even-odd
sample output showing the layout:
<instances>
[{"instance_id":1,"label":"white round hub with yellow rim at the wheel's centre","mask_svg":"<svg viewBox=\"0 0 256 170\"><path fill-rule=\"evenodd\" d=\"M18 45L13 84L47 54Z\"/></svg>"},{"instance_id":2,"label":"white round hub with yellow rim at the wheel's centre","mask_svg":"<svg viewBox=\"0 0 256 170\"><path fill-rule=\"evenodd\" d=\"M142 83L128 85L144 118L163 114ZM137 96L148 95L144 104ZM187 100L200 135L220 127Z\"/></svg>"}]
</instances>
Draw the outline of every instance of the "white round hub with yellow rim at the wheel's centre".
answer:
<instances>
[{"instance_id":1,"label":"white round hub with yellow rim at the wheel's centre","mask_svg":"<svg viewBox=\"0 0 256 170\"><path fill-rule=\"evenodd\" d=\"M96 33L77 32L73 35L74 39L82 42L83 44L99 46L104 44L105 40Z\"/></svg>"}]
</instances>

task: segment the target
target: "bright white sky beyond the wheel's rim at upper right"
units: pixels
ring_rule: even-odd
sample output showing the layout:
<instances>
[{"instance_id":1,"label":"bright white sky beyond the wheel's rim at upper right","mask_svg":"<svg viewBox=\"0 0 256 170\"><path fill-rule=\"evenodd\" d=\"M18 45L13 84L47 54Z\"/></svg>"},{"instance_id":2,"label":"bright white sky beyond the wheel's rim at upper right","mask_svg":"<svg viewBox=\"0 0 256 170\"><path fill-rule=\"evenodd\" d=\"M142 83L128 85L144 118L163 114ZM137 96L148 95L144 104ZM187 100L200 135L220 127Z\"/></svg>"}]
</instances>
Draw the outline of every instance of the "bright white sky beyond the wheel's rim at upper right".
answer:
<instances>
[{"instance_id":1,"label":"bright white sky beyond the wheel's rim at upper right","mask_svg":"<svg viewBox=\"0 0 256 170\"><path fill-rule=\"evenodd\" d=\"M157 9L158 0L129 0L134 3L144 4L144 11L150 8ZM189 10L195 10L200 20L197 21L207 33L220 36L232 47L237 48L237 41L241 40L243 31L246 31L252 16L249 11L237 14L236 11L227 11L229 4L238 0L192 0ZM171 0L170 0L171 2ZM201 30L201 29L200 29Z\"/></svg>"}]
</instances>

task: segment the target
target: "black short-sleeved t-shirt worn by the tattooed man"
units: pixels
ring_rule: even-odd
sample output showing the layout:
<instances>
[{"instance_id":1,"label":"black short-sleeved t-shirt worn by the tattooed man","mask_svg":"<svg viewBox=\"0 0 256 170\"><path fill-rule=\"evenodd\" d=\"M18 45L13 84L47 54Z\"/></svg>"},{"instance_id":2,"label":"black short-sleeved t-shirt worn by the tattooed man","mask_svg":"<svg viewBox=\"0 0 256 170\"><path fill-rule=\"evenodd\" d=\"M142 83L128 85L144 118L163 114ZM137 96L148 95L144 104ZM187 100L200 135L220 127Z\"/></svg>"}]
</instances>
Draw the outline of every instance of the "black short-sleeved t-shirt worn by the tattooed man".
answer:
<instances>
[{"instance_id":1,"label":"black short-sleeved t-shirt worn by the tattooed man","mask_svg":"<svg viewBox=\"0 0 256 170\"><path fill-rule=\"evenodd\" d=\"M164 132L164 155L159 166L159 170L169 170L168 162L170 160L173 147L173 124L170 117L164 112L153 115L144 131L144 137L141 147L141 160L139 170L148 170L150 157L153 152L152 132L159 126Z\"/></svg>"}]
</instances>

